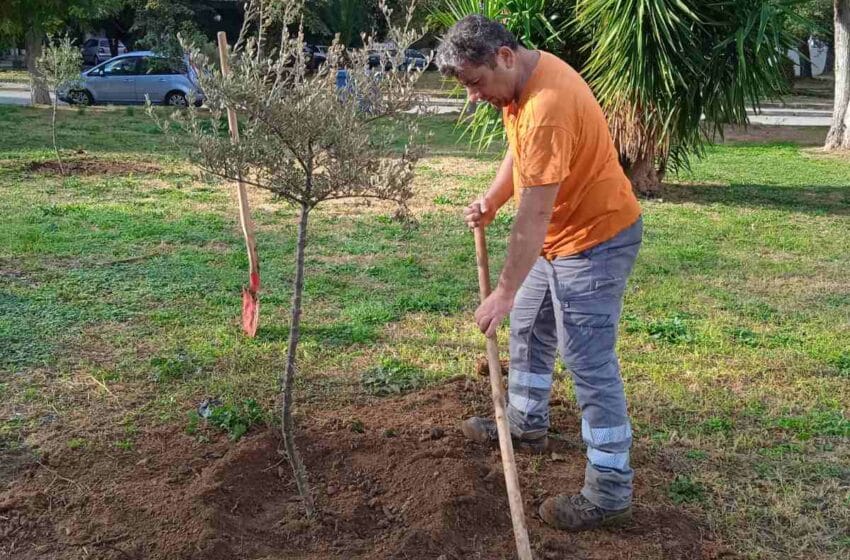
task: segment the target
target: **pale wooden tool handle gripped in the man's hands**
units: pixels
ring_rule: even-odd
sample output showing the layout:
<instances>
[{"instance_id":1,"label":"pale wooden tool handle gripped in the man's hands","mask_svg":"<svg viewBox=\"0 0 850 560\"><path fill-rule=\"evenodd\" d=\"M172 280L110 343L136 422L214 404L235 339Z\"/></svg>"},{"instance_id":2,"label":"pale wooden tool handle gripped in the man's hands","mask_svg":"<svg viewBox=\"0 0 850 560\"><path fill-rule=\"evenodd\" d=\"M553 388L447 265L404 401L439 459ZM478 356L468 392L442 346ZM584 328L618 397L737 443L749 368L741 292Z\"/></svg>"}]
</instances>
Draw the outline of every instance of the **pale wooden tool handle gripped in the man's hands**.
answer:
<instances>
[{"instance_id":1,"label":"pale wooden tool handle gripped in the man's hands","mask_svg":"<svg viewBox=\"0 0 850 560\"><path fill-rule=\"evenodd\" d=\"M487 240L484 228L477 227L475 233L475 257L478 263L478 291L483 302L490 295L490 264L487 258ZM508 505L511 509L511 523L514 526L517 555L520 560L532 560L531 543L525 526L525 512L522 507L522 492L519 488L519 475L514 460L514 446L511 430L505 414L505 394L502 389L502 367L499 364L499 343L496 335L487 337L487 363L490 369L490 388L493 394L493 408L496 411L496 428L499 432L499 450L502 453L502 468L505 471L505 487L508 491Z\"/></svg>"}]
</instances>

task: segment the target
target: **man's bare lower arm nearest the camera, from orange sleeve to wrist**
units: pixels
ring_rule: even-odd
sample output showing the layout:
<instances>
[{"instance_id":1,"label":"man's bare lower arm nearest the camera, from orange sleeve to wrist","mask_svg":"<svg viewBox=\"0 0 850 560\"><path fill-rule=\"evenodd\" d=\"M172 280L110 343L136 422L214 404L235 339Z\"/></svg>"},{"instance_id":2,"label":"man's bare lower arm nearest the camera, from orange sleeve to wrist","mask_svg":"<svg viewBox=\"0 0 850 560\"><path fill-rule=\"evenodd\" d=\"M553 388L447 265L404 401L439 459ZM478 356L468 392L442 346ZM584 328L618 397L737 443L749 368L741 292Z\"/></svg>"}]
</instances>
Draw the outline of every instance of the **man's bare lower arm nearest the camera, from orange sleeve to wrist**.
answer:
<instances>
[{"instance_id":1,"label":"man's bare lower arm nearest the camera, from orange sleeve to wrist","mask_svg":"<svg viewBox=\"0 0 850 560\"><path fill-rule=\"evenodd\" d=\"M505 292L516 294L540 256L557 195L557 184L524 190L499 277L498 287Z\"/></svg>"}]
</instances>

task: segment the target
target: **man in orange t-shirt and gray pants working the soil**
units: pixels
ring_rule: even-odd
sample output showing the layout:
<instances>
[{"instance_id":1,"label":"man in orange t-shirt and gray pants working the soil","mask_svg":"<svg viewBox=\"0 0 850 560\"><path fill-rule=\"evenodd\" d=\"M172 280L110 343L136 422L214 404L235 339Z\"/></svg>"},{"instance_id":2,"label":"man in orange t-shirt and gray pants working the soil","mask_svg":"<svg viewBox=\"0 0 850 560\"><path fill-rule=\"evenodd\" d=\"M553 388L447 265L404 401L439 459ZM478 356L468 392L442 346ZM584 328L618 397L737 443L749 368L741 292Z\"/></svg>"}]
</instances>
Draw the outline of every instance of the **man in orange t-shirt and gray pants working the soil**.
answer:
<instances>
[{"instance_id":1,"label":"man in orange t-shirt and gray pants working the soil","mask_svg":"<svg viewBox=\"0 0 850 560\"><path fill-rule=\"evenodd\" d=\"M521 47L482 16L446 33L437 64L470 101L501 109L508 137L496 178L465 220L485 227L511 197L519 205L498 285L475 312L487 335L510 313L507 416L515 445L546 449L556 351L581 407L584 488L547 499L540 516L567 530L629 519L632 434L615 344L642 221L605 116L569 65ZM476 441L497 440L489 419L470 418L462 429Z\"/></svg>"}]
</instances>

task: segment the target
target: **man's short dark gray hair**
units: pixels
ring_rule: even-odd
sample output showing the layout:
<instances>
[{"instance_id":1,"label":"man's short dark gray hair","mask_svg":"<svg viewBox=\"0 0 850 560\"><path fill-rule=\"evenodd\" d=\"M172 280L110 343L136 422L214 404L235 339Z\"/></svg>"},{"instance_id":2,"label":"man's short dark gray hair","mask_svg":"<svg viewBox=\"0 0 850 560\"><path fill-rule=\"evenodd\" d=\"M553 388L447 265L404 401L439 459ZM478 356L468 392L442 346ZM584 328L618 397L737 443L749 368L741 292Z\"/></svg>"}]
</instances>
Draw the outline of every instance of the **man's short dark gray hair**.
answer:
<instances>
[{"instance_id":1,"label":"man's short dark gray hair","mask_svg":"<svg viewBox=\"0 0 850 560\"><path fill-rule=\"evenodd\" d=\"M480 15L466 16L454 24L437 47L437 67L444 76L457 77L465 65L494 67L500 47L516 50L513 33L498 21Z\"/></svg>"}]
</instances>

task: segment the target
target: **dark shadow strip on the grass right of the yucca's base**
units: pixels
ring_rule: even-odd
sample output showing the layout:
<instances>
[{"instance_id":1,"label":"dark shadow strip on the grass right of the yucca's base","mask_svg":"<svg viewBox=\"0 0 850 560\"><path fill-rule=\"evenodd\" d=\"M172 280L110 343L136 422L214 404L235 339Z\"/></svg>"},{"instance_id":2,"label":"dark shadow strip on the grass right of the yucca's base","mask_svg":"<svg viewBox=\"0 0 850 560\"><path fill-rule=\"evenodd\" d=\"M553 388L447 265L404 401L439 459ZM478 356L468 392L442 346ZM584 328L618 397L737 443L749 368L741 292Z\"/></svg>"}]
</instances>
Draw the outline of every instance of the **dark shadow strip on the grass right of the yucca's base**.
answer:
<instances>
[{"instance_id":1,"label":"dark shadow strip on the grass right of the yucca's base","mask_svg":"<svg viewBox=\"0 0 850 560\"><path fill-rule=\"evenodd\" d=\"M729 186L665 184L658 197L674 204L692 202L814 215L850 215L850 185L777 187L734 183Z\"/></svg>"}]
</instances>

